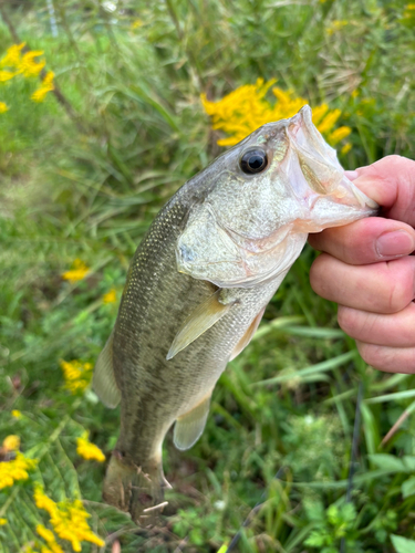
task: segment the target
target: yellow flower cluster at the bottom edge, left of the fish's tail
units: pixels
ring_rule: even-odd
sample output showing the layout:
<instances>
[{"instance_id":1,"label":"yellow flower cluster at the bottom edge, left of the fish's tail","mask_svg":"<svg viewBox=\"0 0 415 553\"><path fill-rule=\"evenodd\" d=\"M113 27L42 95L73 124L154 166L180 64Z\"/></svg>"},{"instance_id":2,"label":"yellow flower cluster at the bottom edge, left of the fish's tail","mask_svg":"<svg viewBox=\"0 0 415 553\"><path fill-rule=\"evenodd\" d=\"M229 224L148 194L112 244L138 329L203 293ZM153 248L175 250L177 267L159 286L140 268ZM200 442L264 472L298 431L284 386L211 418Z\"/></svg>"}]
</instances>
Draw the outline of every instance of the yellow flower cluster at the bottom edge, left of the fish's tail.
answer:
<instances>
[{"instance_id":1,"label":"yellow flower cluster at the bottom edge, left of the fish's tail","mask_svg":"<svg viewBox=\"0 0 415 553\"><path fill-rule=\"evenodd\" d=\"M37 508L43 509L49 513L50 523L53 526L54 533L61 540L71 542L73 551L82 551L81 543L83 541L95 543L100 547L105 545L105 542L90 529L90 525L86 522L90 514L85 511L82 501L79 499L55 503L43 493L41 487L35 488L33 498ZM49 545L52 544L52 539L55 542L55 536L52 531L45 529L44 526L38 526L37 531ZM53 553L60 552L53 551Z\"/></svg>"}]
</instances>

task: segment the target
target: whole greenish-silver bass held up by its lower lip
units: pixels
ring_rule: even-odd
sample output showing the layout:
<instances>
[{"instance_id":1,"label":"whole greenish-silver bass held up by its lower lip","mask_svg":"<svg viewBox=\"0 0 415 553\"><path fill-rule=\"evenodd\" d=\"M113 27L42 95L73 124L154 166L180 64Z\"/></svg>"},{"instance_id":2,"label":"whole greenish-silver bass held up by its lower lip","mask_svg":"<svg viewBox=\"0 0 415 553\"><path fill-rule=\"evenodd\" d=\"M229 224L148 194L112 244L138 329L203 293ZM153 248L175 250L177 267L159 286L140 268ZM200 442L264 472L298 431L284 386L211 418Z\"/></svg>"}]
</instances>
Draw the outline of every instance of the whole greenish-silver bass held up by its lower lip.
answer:
<instances>
[{"instance_id":1,"label":"whole greenish-silver bass held up by its lower lip","mask_svg":"<svg viewBox=\"0 0 415 553\"><path fill-rule=\"evenodd\" d=\"M249 344L309 232L376 213L305 105L217 157L159 211L131 262L93 388L121 404L103 499L151 525L166 505L162 446L204 431L211 393Z\"/></svg>"}]
</instances>

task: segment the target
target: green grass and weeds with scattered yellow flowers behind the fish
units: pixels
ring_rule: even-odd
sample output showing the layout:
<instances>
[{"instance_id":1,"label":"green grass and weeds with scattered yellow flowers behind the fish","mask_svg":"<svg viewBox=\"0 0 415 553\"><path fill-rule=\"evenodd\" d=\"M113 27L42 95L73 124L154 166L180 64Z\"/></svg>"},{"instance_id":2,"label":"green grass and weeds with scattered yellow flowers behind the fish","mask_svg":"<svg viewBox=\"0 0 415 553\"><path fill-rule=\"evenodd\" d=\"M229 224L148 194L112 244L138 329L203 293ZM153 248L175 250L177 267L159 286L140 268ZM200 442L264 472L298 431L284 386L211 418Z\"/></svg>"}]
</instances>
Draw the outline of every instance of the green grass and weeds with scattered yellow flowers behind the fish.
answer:
<instances>
[{"instance_id":1,"label":"green grass and weeds with scattered yellow flowers behind the fish","mask_svg":"<svg viewBox=\"0 0 415 553\"><path fill-rule=\"evenodd\" d=\"M89 386L143 233L229 138L201 98L274 79L339 113L344 167L414 157L415 4L60 0L56 29L51 7L0 4L0 552L224 553L248 517L234 551L415 551L415 378L363 363L311 249L198 444L167 437L163 528L102 503L118 411Z\"/></svg>"}]
</instances>

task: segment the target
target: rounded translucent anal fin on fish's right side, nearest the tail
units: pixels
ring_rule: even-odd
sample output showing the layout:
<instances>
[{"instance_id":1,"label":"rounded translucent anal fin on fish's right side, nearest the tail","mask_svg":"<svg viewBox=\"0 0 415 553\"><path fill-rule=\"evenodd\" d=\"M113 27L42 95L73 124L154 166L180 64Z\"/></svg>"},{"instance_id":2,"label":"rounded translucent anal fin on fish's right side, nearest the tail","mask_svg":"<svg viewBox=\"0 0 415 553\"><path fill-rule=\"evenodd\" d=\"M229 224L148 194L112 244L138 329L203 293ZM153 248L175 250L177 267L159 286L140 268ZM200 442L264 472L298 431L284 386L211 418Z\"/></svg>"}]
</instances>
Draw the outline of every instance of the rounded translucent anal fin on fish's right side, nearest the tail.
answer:
<instances>
[{"instance_id":1,"label":"rounded translucent anal fin on fish's right side, nearest the tail","mask_svg":"<svg viewBox=\"0 0 415 553\"><path fill-rule=\"evenodd\" d=\"M177 449L189 449L200 438L209 414L210 396L211 393L176 420L173 441Z\"/></svg>"}]
</instances>

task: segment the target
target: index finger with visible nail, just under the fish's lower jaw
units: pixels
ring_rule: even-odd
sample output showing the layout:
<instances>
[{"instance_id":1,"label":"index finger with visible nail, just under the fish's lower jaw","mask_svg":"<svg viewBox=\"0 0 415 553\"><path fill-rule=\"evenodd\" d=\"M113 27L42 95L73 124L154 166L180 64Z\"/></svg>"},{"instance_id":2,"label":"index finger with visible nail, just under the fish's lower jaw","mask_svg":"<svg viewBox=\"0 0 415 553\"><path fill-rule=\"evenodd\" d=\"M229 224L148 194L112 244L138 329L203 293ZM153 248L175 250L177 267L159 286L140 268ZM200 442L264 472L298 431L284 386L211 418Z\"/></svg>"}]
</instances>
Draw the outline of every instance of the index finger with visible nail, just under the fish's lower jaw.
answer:
<instances>
[{"instance_id":1,"label":"index finger with visible nail, just under the fish's lower jaw","mask_svg":"<svg viewBox=\"0 0 415 553\"><path fill-rule=\"evenodd\" d=\"M309 236L310 244L350 264L369 264L408 255L415 230L393 219L371 217Z\"/></svg>"}]
</instances>

